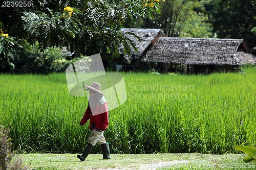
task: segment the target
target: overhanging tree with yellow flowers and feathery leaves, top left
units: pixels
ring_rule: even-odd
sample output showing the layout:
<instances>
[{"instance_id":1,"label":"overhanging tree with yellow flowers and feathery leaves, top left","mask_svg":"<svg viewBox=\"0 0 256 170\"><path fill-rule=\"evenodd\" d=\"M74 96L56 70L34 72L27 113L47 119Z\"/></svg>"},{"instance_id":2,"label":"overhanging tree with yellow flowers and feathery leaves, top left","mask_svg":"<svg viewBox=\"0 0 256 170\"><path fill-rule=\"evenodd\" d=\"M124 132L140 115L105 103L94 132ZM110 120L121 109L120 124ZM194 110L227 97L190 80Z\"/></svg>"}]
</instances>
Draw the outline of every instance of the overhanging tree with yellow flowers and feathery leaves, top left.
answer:
<instances>
[{"instance_id":1,"label":"overhanging tree with yellow flowers and feathery leaves, top left","mask_svg":"<svg viewBox=\"0 0 256 170\"><path fill-rule=\"evenodd\" d=\"M48 46L66 46L71 52L83 55L129 54L131 46L135 46L120 33L123 23L135 22L138 16L153 17L153 11L159 12L157 0L34 0L29 7L15 5L6 7L0 3L1 58L17 54L26 42L36 41L42 50ZM8 47L10 44L15 48Z\"/></svg>"}]
</instances>

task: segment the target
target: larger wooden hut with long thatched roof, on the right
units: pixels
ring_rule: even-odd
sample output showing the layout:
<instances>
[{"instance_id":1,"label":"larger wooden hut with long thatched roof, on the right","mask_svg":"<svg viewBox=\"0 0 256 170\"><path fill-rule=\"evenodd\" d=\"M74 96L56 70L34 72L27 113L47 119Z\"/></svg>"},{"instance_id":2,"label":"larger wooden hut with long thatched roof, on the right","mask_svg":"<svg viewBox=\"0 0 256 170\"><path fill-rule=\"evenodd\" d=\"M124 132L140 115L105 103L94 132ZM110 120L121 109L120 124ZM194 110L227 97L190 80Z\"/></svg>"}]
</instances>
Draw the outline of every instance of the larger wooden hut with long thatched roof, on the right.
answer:
<instances>
[{"instance_id":1,"label":"larger wooden hut with long thatched roof, on the right","mask_svg":"<svg viewBox=\"0 0 256 170\"><path fill-rule=\"evenodd\" d=\"M243 39L159 37L142 61L158 63L163 72L197 74L233 71L246 63L255 64L256 58Z\"/></svg>"}]
</instances>

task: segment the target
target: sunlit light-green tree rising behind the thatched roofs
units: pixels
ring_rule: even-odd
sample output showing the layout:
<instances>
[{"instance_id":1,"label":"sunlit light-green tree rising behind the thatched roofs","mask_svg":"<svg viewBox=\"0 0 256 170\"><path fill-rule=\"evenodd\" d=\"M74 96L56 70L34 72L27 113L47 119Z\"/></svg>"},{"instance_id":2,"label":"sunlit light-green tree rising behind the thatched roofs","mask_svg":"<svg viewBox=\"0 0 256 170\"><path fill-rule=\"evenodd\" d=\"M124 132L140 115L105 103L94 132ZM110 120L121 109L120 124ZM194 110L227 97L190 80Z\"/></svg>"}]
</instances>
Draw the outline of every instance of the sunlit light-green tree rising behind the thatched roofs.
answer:
<instances>
[{"instance_id":1,"label":"sunlit light-green tree rising behind the thatched roofs","mask_svg":"<svg viewBox=\"0 0 256 170\"><path fill-rule=\"evenodd\" d=\"M208 0L166 0L159 5L161 15L155 14L154 19L149 17L141 18L137 22L139 26L132 23L132 27L162 29L168 37L208 37L210 36L209 32L211 32L211 28L210 25L206 23L207 15L202 13L204 11L204 5L207 3L209 3ZM197 14L194 13L194 10L197 11ZM191 17L192 15L195 17ZM195 22L189 21L191 18L193 19L192 21ZM202 18L204 18L204 20L202 20ZM195 23L197 24L198 30L191 33L189 28L193 27ZM130 26L127 25L127 27ZM207 30L207 32L205 30ZM200 33L200 31L203 32Z\"/></svg>"}]
</instances>

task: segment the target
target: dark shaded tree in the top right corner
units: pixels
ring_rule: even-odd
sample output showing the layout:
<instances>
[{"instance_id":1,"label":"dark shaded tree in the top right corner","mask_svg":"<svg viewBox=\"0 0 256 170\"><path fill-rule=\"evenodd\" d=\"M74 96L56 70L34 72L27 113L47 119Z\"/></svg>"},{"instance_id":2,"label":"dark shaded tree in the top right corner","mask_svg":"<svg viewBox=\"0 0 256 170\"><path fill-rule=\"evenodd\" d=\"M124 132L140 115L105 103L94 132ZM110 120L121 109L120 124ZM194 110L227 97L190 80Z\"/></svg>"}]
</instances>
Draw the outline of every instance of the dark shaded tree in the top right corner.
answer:
<instances>
[{"instance_id":1,"label":"dark shaded tree in the top right corner","mask_svg":"<svg viewBox=\"0 0 256 170\"><path fill-rule=\"evenodd\" d=\"M208 7L214 32L219 38L242 38L250 48L256 44L256 1L216 0Z\"/></svg>"}]
</instances>

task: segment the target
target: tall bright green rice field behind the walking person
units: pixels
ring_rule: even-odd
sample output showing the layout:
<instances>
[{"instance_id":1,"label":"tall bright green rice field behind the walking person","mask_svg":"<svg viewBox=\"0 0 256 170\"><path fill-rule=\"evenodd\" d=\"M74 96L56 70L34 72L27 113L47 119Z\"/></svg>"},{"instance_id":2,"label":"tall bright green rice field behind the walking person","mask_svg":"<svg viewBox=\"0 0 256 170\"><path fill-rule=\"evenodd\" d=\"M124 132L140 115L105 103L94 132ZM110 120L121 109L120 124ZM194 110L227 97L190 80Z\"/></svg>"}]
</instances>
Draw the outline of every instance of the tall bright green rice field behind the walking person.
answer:
<instances>
[{"instance_id":1,"label":"tall bright green rice field behind the walking person","mask_svg":"<svg viewBox=\"0 0 256 170\"><path fill-rule=\"evenodd\" d=\"M256 146L256 67L244 73L122 73L127 101L110 111L112 154L239 153ZM90 135L79 122L87 98L66 75L0 74L0 125L19 153L80 153ZM97 146L93 153L100 153Z\"/></svg>"}]
</instances>

